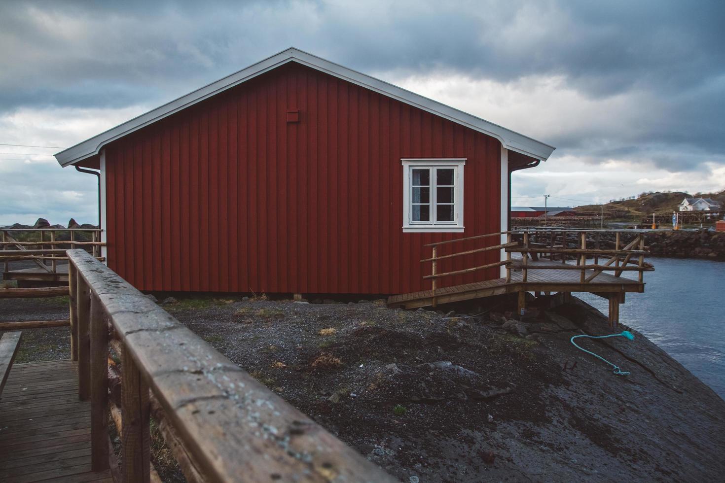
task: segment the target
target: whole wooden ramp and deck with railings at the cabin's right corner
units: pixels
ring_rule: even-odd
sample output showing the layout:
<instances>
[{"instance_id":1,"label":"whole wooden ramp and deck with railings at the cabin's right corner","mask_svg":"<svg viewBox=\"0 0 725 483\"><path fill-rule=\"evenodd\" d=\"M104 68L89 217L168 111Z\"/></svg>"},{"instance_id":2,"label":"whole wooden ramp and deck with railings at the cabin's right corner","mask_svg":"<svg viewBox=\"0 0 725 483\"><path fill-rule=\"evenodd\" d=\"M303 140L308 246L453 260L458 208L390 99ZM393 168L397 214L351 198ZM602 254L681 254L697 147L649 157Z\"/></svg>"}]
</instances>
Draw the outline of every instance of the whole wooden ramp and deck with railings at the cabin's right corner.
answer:
<instances>
[{"instance_id":1,"label":"whole wooden ramp and deck with railings at the cabin's right corner","mask_svg":"<svg viewBox=\"0 0 725 483\"><path fill-rule=\"evenodd\" d=\"M623 234L631 235L632 240L624 243L621 240ZM485 242L495 240L494 237L500 238L501 242L456 253L439 253L442 245L472 240ZM516 293L518 311L521 311L525 309L524 295L527 292L589 292L608 299L609 322L616 326L619 320L619 304L624 303L625 294L644 292L643 274L654 270L653 266L645 264L648 252L645 247L645 232L641 230L523 229L426 246L431 247L431 257L421 260L421 263L431 263L431 274L423 277L431 280L431 290L392 295L388 299L389 306L418 308ZM443 260L470 257L474 253L486 251L503 251L506 253L505 260L452 272L439 272L439 263ZM601 264L600 259L603 262ZM440 286L440 279L494 266L505 266L506 277ZM637 280L622 277L624 272L637 272Z\"/></svg>"}]
</instances>

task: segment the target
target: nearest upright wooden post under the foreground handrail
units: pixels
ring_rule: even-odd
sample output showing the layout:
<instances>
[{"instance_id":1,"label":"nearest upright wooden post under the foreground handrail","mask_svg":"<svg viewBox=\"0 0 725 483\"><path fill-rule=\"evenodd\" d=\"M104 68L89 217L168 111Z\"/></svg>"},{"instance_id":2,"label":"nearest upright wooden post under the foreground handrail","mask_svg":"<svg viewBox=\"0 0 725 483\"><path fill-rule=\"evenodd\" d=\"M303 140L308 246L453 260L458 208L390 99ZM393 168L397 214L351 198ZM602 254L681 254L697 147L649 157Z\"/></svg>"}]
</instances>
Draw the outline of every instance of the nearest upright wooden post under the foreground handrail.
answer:
<instances>
[{"instance_id":1,"label":"nearest upright wooden post under the foreground handrail","mask_svg":"<svg viewBox=\"0 0 725 483\"><path fill-rule=\"evenodd\" d=\"M136 361L124 351L121 379L121 448L123 451L123 481L151 481L149 450L149 387L138 371Z\"/></svg>"}]
</instances>

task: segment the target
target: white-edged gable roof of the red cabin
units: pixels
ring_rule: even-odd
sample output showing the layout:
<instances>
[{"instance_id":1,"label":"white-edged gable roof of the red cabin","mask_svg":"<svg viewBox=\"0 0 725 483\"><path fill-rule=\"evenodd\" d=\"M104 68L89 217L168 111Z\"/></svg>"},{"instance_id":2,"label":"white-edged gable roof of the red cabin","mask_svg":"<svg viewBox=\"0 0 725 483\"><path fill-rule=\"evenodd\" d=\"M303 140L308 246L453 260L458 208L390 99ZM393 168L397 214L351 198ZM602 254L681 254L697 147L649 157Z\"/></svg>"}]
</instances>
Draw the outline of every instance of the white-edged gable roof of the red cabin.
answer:
<instances>
[{"instance_id":1,"label":"white-edged gable roof of the red cabin","mask_svg":"<svg viewBox=\"0 0 725 483\"><path fill-rule=\"evenodd\" d=\"M65 149L64 151L60 151L58 154L55 154L55 158L61 166L65 167L91 156L95 156L96 154L99 154L101 148L105 144L110 143L113 140L123 138L123 136L146 127L153 122L157 122L160 119L170 116L171 114L175 114L182 109L186 109L188 106L192 106L206 98L210 98L211 96L225 91L228 88L232 88L235 85L244 83L247 80L257 77L257 75L273 70L276 67L286 64L287 62L299 62L307 67L312 67L313 69L321 72L326 72L329 75L334 75L335 77L339 77L351 83L361 85L364 88L376 91L384 96L397 99L398 101L405 102L406 104L418 107L424 111L444 117L452 122L457 122L465 127L470 127L473 130L477 130L481 133L497 138L505 148L525 154L526 156L531 156L534 159L546 160L555 149L553 146L549 146L548 144L544 144L540 141L529 138L528 136L515 133L514 131L508 130L500 125L488 122L471 114L466 114L463 111L446 106L440 102L419 96L418 94L406 91L405 89L399 88L390 83L386 83L383 80L378 80L375 77L370 77L369 75L365 75L361 72L348 69L347 67L343 67L318 56L308 54L307 52L299 49L294 49L293 47L285 49L278 54L270 56L267 59L257 62L256 64L252 64L246 69L242 69L239 72L228 75L227 77L217 80L209 85L204 85L204 87L188 93L186 96L181 96L174 101L146 112L146 114L134 117L133 119L130 119L130 121L117 125L104 133L95 135L93 138L87 139L82 143L78 143L75 146Z\"/></svg>"}]
</instances>

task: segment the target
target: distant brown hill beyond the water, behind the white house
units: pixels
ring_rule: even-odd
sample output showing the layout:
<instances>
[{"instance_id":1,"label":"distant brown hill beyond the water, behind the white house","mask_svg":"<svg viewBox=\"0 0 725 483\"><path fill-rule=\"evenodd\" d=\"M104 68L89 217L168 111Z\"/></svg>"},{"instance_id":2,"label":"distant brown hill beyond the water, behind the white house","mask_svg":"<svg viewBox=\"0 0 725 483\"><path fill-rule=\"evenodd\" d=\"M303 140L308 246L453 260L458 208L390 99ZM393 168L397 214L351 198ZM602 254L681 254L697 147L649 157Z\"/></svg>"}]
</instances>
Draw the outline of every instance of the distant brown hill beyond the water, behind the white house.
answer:
<instances>
[{"instance_id":1,"label":"distant brown hill beyond the water, behind the white house","mask_svg":"<svg viewBox=\"0 0 725 483\"><path fill-rule=\"evenodd\" d=\"M610 201L610 203L605 203L604 210L605 213L617 213L620 217L628 215L640 217L652 213L676 211L677 206L682 203L684 198L713 198L721 201L725 206L725 190L720 193L695 193L694 195L683 191L666 193L656 191L654 193L642 193L637 198ZM577 212L596 211L597 213L600 209L601 205L584 205L574 208Z\"/></svg>"}]
</instances>

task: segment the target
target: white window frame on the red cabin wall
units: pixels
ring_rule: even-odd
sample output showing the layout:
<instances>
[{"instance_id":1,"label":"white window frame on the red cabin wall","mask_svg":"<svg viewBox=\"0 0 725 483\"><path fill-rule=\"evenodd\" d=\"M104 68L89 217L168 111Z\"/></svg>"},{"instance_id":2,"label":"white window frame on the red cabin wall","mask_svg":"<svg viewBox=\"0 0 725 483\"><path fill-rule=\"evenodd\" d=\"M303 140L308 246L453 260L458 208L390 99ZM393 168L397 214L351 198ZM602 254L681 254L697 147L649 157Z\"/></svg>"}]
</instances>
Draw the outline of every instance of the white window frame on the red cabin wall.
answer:
<instances>
[{"instance_id":1,"label":"white window frame on the red cabin wall","mask_svg":"<svg viewBox=\"0 0 725 483\"><path fill-rule=\"evenodd\" d=\"M404 233L434 232L434 233L460 233L463 232L463 167L465 158L405 158L400 162L403 167L403 226ZM413 168L431 169L431 220L428 222L413 221ZM436 185L435 169L453 168L453 221L436 221Z\"/></svg>"}]
</instances>

